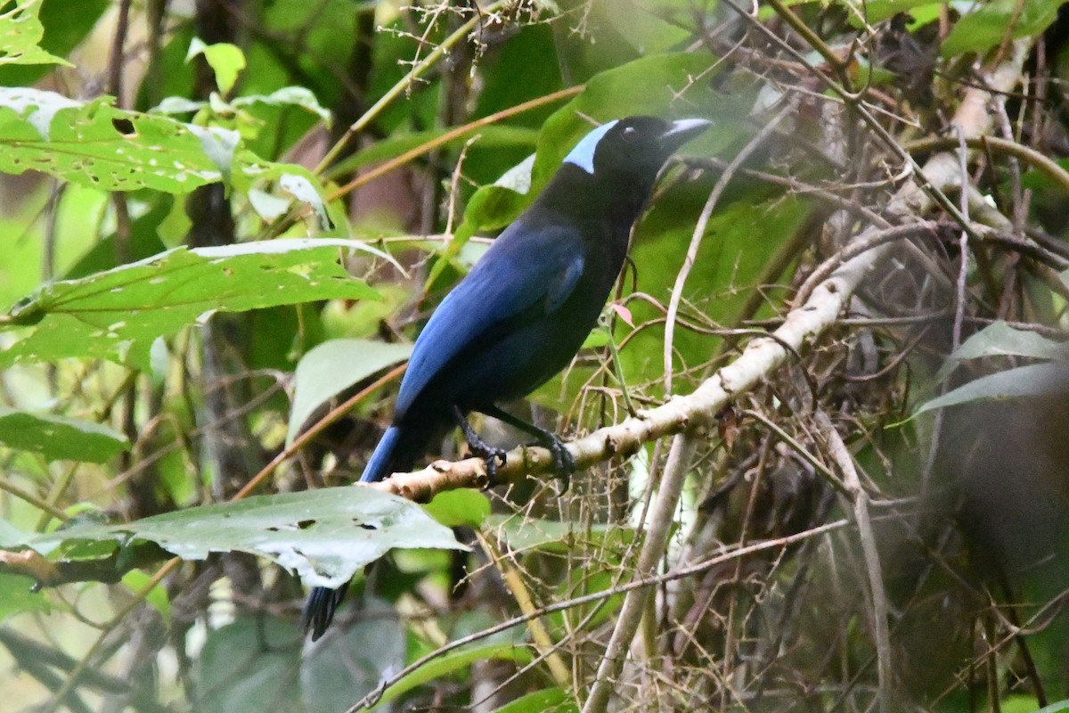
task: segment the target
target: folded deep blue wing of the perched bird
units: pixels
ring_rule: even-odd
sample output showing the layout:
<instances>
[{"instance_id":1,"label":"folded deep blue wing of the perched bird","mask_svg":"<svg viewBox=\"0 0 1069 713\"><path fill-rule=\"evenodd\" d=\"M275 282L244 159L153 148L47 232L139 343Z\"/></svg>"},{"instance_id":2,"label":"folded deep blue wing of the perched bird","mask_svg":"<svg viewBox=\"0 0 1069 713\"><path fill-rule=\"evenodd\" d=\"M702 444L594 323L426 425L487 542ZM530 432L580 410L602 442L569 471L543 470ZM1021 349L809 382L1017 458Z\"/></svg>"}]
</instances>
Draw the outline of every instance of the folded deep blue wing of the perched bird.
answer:
<instances>
[{"instance_id":1,"label":"folded deep blue wing of the perched bird","mask_svg":"<svg viewBox=\"0 0 1069 713\"><path fill-rule=\"evenodd\" d=\"M583 276L583 243L560 227L509 226L431 315L401 382L394 422L467 345L540 300L560 308Z\"/></svg>"}]
</instances>

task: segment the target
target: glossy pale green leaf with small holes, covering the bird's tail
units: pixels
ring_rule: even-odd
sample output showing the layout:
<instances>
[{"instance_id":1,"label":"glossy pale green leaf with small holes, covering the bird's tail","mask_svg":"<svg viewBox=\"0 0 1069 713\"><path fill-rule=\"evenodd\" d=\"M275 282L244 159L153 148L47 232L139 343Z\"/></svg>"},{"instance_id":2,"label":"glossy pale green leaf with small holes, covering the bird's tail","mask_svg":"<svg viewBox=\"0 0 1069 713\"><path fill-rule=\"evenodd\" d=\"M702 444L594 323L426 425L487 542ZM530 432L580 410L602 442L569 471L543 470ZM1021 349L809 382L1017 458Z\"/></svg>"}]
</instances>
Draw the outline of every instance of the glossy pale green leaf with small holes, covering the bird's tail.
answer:
<instances>
[{"instance_id":1,"label":"glossy pale green leaf with small holes, covering the bird's tail","mask_svg":"<svg viewBox=\"0 0 1069 713\"><path fill-rule=\"evenodd\" d=\"M372 487L328 487L207 505L124 525L76 525L31 545L146 540L185 559L247 552L295 571L306 584L338 587L393 547L467 549L423 509Z\"/></svg>"}]
</instances>

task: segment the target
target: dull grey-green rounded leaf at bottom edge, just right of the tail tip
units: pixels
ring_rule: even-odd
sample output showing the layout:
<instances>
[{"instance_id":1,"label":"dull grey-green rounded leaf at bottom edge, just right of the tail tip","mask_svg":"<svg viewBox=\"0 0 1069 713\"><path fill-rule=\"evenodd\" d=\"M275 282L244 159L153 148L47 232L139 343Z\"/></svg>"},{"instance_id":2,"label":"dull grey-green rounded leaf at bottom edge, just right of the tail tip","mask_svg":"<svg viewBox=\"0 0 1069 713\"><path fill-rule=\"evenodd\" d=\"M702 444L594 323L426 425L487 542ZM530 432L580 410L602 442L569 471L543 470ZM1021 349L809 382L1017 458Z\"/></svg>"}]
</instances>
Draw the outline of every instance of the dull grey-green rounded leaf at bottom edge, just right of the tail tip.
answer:
<instances>
[{"instance_id":1,"label":"dull grey-green rounded leaf at bottom edge, just right of the tail tip","mask_svg":"<svg viewBox=\"0 0 1069 713\"><path fill-rule=\"evenodd\" d=\"M389 602L365 595L360 615L347 626L336 623L307 650L300 683L308 713L344 711L404 668L405 626Z\"/></svg>"}]
</instances>

